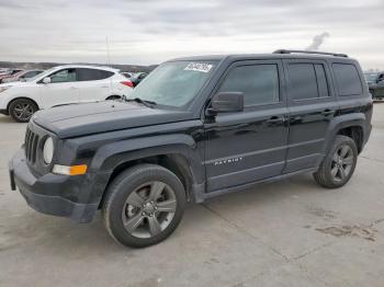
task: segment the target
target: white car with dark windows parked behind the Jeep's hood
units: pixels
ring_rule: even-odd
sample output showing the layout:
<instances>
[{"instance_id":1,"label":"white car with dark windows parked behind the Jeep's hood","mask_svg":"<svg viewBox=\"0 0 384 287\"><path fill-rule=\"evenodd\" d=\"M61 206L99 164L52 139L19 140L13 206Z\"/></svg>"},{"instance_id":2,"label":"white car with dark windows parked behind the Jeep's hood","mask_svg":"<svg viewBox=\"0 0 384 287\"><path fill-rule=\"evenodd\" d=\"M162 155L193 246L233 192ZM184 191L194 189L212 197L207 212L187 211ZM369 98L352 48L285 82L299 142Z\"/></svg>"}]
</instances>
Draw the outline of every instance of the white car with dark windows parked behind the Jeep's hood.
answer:
<instances>
[{"instance_id":1,"label":"white car with dark windows parked behind the Jeep's hood","mask_svg":"<svg viewBox=\"0 0 384 287\"><path fill-rule=\"evenodd\" d=\"M132 82L108 67L58 66L25 82L0 84L0 113L29 122L43 108L128 96Z\"/></svg>"}]
</instances>

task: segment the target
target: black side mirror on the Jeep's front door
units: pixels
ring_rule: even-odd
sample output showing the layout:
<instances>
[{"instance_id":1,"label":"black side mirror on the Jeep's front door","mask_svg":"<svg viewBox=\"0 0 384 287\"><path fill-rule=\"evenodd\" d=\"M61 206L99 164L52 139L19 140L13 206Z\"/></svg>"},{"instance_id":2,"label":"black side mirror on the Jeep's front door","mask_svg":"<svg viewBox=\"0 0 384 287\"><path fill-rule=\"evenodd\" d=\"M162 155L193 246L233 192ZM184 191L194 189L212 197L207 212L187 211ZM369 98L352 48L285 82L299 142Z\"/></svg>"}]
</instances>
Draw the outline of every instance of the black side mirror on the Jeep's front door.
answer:
<instances>
[{"instance_id":1,"label":"black side mirror on the Jeep's front door","mask_svg":"<svg viewBox=\"0 0 384 287\"><path fill-rule=\"evenodd\" d=\"M242 92L219 92L211 101L207 112L210 114L231 113L244 111Z\"/></svg>"}]
</instances>

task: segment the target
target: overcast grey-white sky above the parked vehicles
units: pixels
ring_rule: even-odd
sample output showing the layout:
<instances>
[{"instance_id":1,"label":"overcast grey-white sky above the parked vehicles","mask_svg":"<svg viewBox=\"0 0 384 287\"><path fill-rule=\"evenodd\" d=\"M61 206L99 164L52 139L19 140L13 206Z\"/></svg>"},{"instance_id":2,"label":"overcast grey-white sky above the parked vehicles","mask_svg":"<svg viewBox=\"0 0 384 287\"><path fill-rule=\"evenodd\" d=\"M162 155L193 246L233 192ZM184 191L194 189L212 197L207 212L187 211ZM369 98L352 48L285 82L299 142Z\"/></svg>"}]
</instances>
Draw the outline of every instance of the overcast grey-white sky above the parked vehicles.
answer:
<instances>
[{"instance_id":1,"label":"overcast grey-white sky above the parked vehicles","mask_svg":"<svg viewBox=\"0 0 384 287\"><path fill-rule=\"evenodd\" d=\"M0 61L151 65L320 44L384 69L384 0L0 0Z\"/></svg>"}]
</instances>

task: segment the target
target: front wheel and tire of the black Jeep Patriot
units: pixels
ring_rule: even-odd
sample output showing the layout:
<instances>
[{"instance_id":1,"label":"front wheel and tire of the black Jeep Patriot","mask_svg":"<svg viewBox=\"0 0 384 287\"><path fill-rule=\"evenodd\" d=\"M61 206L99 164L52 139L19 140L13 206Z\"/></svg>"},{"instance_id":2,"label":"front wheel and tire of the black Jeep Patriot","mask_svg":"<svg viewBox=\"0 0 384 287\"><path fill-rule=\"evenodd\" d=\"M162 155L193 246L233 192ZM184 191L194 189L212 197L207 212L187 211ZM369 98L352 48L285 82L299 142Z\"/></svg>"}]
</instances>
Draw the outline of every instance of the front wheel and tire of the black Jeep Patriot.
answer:
<instances>
[{"instance_id":1,"label":"front wheel and tire of the black Jeep Patriot","mask_svg":"<svg viewBox=\"0 0 384 287\"><path fill-rule=\"evenodd\" d=\"M160 165L140 164L113 180L102 215L113 239L126 246L145 248L176 230L185 200L184 187L176 174Z\"/></svg>"}]
</instances>

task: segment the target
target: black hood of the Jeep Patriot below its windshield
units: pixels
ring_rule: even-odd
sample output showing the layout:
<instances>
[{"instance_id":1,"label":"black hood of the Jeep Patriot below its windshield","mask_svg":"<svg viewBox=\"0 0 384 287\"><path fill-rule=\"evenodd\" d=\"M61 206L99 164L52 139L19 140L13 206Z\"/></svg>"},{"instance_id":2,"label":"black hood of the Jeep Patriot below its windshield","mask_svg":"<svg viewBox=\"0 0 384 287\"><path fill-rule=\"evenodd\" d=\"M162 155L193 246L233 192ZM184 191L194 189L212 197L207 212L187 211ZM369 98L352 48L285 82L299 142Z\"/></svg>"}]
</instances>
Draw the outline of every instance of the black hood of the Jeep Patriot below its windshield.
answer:
<instances>
[{"instance_id":1,"label":"black hood of the Jeep Patriot below its windshield","mask_svg":"<svg viewBox=\"0 0 384 287\"><path fill-rule=\"evenodd\" d=\"M104 101L70 104L39 111L32 120L56 134L70 138L148 125L191 119L184 111L151 108L138 103Z\"/></svg>"}]
</instances>

